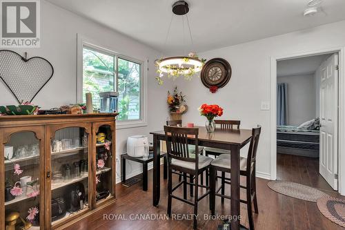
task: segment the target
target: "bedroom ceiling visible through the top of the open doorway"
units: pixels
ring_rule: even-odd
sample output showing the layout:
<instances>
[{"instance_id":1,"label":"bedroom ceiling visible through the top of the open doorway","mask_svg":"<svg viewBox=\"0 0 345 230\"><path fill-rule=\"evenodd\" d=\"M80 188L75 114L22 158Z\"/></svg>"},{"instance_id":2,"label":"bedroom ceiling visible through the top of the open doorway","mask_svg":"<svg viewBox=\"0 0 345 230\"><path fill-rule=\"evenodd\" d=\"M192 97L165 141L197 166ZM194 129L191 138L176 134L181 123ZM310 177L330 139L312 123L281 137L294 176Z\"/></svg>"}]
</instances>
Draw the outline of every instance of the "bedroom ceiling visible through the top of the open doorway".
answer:
<instances>
[{"instance_id":1,"label":"bedroom ceiling visible through the top of the open doorway","mask_svg":"<svg viewBox=\"0 0 345 230\"><path fill-rule=\"evenodd\" d=\"M277 77L314 74L315 70L329 56L331 54L277 61Z\"/></svg>"}]
</instances>

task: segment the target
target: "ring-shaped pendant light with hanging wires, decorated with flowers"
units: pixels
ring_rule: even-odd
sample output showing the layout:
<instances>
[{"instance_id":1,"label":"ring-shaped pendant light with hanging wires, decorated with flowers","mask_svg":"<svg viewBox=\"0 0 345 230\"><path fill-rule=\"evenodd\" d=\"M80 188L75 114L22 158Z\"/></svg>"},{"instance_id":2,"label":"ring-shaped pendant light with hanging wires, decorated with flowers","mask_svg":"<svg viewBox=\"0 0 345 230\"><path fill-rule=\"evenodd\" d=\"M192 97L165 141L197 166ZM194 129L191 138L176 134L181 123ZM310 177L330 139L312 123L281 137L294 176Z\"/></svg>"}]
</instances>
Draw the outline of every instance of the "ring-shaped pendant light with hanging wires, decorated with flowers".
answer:
<instances>
[{"instance_id":1,"label":"ring-shaped pendant light with hanging wires, decorated with flowers","mask_svg":"<svg viewBox=\"0 0 345 230\"><path fill-rule=\"evenodd\" d=\"M174 15L180 15L182 17L186 17L186 21L188 24L188 30L190 35L190 42L193 44L193 37L192 32L190 31L189 21L187 13L189 12L189 6L186 1L177 1L172 5L172 13ZM172 15L172 17L174 17ZM168 35L170 32L170 27L172 23L172 18L170 21L170 25L168 27L168 33L166 35L166 41L168 39ZM182 21L182 28L184 28L184 21ZM166 41L164 45L166 45ZM163 84L162 77L167 75L168 77L177 78L181 75L184 76L185 79L192 79L195 73L201 71L202 66L205 64L205 59L199 59L195 52L190 52L188 55L184 56L177 56L177 57L165 57L162 59L156 60L157 66L157 73L159 74L156 77L158 84Z\"/></svg>"}]
</instances>

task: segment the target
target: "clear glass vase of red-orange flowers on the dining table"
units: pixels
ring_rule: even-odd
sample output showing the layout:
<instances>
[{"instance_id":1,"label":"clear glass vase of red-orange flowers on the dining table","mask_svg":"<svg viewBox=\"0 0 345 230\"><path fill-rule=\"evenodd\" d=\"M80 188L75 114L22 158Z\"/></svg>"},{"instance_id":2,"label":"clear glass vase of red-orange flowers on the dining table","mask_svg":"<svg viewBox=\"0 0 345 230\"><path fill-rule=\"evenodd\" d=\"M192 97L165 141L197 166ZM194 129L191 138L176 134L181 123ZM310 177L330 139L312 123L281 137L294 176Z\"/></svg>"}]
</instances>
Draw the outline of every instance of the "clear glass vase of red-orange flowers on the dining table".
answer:
<instances>
[{"instance_id":1,"label":"clear glass vase of red-orange flowers on the dining table","mask_svg":"<svg viewBox=\"0 0 345 230\"><path fill-rule=\"evenodd\" d=\"M206 130L208 133L212 133L215 131L215 117L221 117L223 115L223 108L218 106L217 104L202 104L199 107L199 112L201 116L207 118L205 123Z\"/></svg>"}]
</instances>

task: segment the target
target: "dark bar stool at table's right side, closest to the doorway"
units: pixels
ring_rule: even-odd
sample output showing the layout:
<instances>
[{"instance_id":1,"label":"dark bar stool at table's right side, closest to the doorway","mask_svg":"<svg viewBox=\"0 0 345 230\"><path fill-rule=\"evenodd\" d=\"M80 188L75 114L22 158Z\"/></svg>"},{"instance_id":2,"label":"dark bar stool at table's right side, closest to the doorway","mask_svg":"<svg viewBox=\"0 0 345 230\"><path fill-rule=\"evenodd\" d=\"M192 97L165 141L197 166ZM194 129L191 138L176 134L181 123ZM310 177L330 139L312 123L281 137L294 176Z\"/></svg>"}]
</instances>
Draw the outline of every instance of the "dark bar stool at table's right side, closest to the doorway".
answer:
<instances>
[{"instance_id":1,"label":"dark bar stool at table's right side, closest to the doorway","mask_svg":"<svg viewBox=\"0 0 345 230\"><path fill-rule=\"evenodd\" d=\"M250 146L248 149L248 156L240 157L239 167L240 175L246 177L246 186L240 186L242 189L246 189L246 200L240 200L240 202L247 204L248 222L251 230L254 230L253 211L252 204L254 204L254 211L258 213L257 209L257 193L255 183L255 166L257 157L257 144L259 144L259 137L261 133L261 127L253 128L252 137L250 140ZM221 198L230 199L230 196L219 194L219 190L225 187L225 184L231 184L230 178L221 180L221 186L216 190L215 183L217 180L217 171L222 173L230 173L230 154L221 154L211 163L210 167L210 210L212 215L215 215L215 196Z\"/></svg>"}]
</instances>

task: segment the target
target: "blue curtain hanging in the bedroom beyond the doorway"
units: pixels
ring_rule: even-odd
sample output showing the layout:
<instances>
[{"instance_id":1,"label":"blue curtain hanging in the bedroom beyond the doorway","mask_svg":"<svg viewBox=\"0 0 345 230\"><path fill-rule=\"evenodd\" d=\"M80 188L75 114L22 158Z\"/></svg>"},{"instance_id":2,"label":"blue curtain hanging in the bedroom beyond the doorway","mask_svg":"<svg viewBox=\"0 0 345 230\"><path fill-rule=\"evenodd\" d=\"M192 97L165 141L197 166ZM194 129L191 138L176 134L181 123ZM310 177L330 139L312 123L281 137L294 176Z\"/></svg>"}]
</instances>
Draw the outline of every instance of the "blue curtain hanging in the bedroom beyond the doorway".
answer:
<instances>
[{"instance_id":1,"label":"blue curtain hanging in the bedroom beyond the doorway","mask_svg":"<svg viewBox=\"0 0 345 230\"><path fill-rule=\"evenodd\" d=\"M288 84L277 84L277 125L286 125L288 114Z\"/></svg>"}]
</instances>

